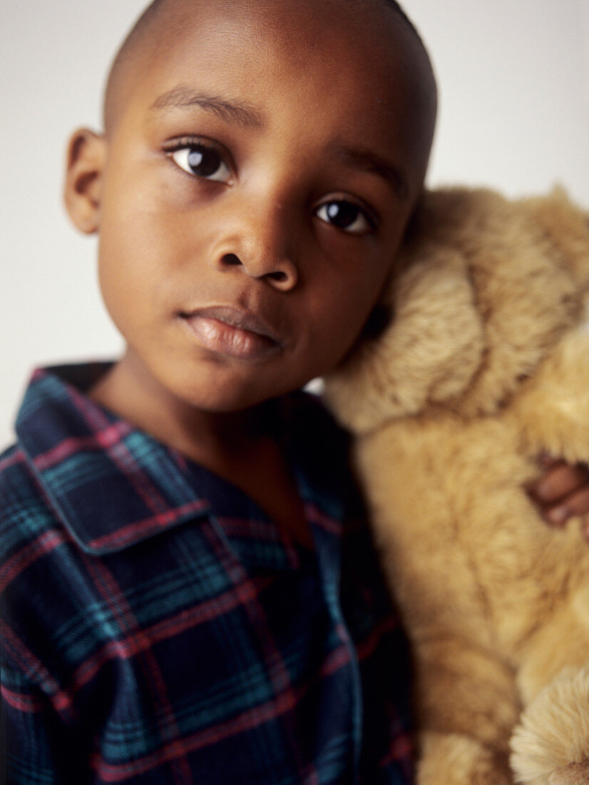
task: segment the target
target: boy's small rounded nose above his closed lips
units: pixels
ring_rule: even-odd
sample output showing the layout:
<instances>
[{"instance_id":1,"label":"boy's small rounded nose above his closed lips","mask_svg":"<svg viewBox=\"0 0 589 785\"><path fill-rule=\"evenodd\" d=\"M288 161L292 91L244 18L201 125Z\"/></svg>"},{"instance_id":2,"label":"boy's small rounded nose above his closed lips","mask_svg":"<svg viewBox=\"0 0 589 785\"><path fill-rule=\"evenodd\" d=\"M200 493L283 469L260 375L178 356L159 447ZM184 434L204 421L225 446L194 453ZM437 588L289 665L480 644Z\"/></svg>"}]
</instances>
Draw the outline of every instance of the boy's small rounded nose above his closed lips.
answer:
<instances>
[{"instance_id":1,"label":"boy's small rounded nose above his closed lips","mask_svg":"<svg viewBox=\"0 0 589 785\"><path fill-rule=\"evenodd\" d=\"M299 271L292 254L293 237L279 218L249 212L241 220L227 222L214 252L216 267L264 279L280 291L296 287Z\"/></svg>"}]
</instances>

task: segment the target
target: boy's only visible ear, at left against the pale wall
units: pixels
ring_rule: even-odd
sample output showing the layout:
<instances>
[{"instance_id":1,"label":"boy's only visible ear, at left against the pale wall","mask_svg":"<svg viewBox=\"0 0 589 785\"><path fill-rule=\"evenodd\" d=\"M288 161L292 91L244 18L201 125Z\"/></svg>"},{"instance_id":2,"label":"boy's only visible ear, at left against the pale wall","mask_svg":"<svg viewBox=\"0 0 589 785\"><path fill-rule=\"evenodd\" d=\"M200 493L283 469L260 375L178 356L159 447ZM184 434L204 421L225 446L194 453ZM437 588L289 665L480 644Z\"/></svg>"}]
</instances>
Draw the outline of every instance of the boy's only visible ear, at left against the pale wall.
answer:
<instances>
[{"instance_id":1,"label":"boy's only visible ear, at left against the pale wall","mask_svg":"<svg viewBox=\"0 0 589 785\"><path fill-rule=\"evenodd\" d=\"M107 142L87 128L72 134L67 145L64 201L67 213L81 232L93 234L100 225L100 193Z\"/></svg>"}]
</instances>

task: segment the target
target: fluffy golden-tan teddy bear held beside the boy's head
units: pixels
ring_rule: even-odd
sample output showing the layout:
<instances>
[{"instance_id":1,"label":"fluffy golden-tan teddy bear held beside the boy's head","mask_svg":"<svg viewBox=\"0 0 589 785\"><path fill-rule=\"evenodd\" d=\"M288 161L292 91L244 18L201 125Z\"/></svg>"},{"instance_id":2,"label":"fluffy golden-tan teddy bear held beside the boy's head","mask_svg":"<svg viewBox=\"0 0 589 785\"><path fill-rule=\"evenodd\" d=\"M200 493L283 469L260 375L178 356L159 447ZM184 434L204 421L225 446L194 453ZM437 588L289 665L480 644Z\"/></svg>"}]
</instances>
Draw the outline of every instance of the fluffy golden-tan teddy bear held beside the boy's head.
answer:
<instances>
[{"instance_id":1,"label":"fluffy golden-tan teddy bear held beside the boy's head","mask_svg":"<svg viewBox=\"0 0 589 785\"><path fill-rule=\"evenodd\" d=\"M589 544L525 492L589 461L589 214L425 192L325 379L415 657L420 785L589 783Z\"/></svg>"}]
</instances>

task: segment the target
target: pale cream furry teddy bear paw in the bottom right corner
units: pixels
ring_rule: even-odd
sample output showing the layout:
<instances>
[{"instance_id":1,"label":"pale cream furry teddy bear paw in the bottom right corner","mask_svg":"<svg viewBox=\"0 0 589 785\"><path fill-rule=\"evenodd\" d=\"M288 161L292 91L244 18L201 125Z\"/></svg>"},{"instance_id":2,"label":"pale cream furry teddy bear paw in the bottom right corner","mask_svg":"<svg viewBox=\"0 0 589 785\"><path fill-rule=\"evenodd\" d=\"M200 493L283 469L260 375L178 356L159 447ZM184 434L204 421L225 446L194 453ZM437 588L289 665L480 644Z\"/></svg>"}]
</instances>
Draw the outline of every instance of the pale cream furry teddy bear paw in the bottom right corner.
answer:
<instances>
[{"instance_id":1,"label":"pale cream furry teddy bear paw in the bottom right corner","mask_svg":"<svg viewBox=\"0 0 589 785\"><path fill-rule=\"evenodd\" d=\"M589 758L589 666L565 668L536 696L511 737L511 750L517 783L589 785L587 771L581 779L558 779L575 776Z\"/></svg>"}]
</instances>

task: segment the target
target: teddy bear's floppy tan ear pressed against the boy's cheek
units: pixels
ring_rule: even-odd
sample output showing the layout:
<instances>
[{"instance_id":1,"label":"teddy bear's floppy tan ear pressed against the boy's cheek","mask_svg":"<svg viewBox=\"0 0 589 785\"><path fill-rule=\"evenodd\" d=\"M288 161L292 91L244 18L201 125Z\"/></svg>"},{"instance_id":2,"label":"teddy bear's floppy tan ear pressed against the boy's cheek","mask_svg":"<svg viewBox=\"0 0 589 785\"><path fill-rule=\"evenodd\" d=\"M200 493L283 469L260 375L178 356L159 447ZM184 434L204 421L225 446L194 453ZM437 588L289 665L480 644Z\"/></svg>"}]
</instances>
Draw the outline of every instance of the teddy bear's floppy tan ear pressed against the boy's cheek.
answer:
<instances>
[{"instance_id":1,"label":"teddy bear's floppy tan ear pressed against the boy's cheek","mask_svg":"<svg viewBox=\"0 0 589 785\"><path fill-rule=\"evenodd\" d=\"M464 258L421 233L380 308L391 322L325 379L325 398L354 433L457 396L481 362L482 323Z\"/></svg>"}]
</instances>

